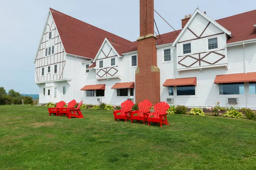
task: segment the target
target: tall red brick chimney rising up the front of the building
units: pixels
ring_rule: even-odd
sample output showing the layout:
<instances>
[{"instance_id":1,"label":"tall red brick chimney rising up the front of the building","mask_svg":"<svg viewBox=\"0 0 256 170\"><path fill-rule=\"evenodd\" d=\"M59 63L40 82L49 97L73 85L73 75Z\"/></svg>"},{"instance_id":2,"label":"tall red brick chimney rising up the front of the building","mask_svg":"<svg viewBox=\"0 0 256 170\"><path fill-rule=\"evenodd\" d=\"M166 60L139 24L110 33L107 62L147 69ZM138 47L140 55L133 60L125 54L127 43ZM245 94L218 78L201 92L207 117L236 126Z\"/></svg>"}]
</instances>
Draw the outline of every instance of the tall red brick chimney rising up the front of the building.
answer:
<instances>
[{"instance_id":1,"label":"tall red brick chimney rising up the front of the building","mask_svg":"<svg viewBox=\"0 0 256 170\"><path fill-rule=\"evenodd\" d=\"M157 67L157 37L154 36L154 0L140 0L138 68L135 72L136 103L160 102L160 70Z\"/></svg>"}]
</instances>

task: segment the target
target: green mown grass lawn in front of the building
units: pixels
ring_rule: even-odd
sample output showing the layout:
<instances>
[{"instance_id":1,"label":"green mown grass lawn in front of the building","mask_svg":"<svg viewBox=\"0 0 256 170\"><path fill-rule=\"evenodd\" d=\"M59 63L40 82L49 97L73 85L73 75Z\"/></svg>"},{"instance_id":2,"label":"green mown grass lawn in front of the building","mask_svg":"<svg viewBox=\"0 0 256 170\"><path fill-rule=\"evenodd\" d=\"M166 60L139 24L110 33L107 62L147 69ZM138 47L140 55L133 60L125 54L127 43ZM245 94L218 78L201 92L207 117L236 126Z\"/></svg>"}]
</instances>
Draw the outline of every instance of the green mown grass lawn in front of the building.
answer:
<instances>
[{"instance_id":1,"label":"green mown grass lawn in front of the building","mask_svg":"<svg viewBox=\"0 0 256 170\"><path fill-rule=\"evenodd\" d=\"M256 121L168 115L160 128L115 122L111 111L82 113L0 106L0 169L256 169Z\"/></svg>"}]
</instances>

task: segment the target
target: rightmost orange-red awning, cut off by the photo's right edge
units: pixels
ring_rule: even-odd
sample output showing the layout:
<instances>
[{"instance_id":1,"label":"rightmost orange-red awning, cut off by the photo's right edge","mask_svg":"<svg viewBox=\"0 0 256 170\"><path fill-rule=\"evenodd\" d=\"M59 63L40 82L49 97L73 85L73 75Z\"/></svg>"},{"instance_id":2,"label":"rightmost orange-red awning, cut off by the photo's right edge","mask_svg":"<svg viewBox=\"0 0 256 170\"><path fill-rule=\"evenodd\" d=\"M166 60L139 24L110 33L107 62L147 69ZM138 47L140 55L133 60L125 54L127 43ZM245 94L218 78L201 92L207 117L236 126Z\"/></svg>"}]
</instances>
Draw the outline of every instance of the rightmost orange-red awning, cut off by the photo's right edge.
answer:
<instances>
[{"instance_id":1,"label":"rightmost orange-red awning, cut off by the photo's right edge","mask_svg":"<svg viewBox=\"0 0 256 170\"><path fill-rule=\"evenodd\" d=\"M225 74L216 76L214 83L256 82L256 73Z\"/></svg>"}]
</instances>

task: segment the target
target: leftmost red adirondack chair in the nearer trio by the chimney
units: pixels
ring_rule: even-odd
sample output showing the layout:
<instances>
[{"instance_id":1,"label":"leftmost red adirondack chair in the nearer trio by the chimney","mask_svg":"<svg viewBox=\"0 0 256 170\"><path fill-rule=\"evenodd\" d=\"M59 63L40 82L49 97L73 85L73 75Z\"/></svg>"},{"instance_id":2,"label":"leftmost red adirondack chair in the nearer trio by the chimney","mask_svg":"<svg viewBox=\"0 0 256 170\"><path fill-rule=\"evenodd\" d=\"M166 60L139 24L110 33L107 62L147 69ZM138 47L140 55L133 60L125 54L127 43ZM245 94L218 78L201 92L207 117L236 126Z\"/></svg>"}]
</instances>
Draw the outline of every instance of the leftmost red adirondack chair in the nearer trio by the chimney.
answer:
<instances>
[{"instance_id":1,"label":"leftmost red adirondack chair in the nearer trio by the chimney","mask_svg":"<svg viewBox=\"0 0 256 170\"><path fill-rule=\"evenodd\" d=\"M131 100L126 100L122 102L121 104L122 109L118 111L113 111L115 121L116 119L125 119L125 122L127 121L127 119L131 120L129 112L131 111L131 108L133 106L134 106L134 103Z\"/></svg>"}]
</instances>

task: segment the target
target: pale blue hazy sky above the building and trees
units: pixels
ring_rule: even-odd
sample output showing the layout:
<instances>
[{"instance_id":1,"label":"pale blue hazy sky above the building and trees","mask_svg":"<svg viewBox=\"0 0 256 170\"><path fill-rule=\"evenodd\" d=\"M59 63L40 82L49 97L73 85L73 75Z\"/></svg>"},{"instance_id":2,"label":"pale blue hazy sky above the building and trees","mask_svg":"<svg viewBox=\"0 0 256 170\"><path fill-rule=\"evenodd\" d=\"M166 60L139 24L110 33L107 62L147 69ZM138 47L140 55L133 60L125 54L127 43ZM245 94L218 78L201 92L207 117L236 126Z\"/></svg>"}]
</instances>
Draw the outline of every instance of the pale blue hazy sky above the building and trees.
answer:
<instances>
[{"instance_id":1,"label":"pale blue hazy sky above the building and trees","mask_svg":"<svg viewBox=\"0 0 256 170\"><path fill-rule=\"evenodd\" d=\"M49 8L135 41L140 34L139 4L140 0L0 0L0 87L39 94L33 59ZM154 9L176 30L196 8L217 20L255 10L256 1L154 1ZM173 31L156 13L154 18L160 34Z\"/></svg>"}]
</instances>

